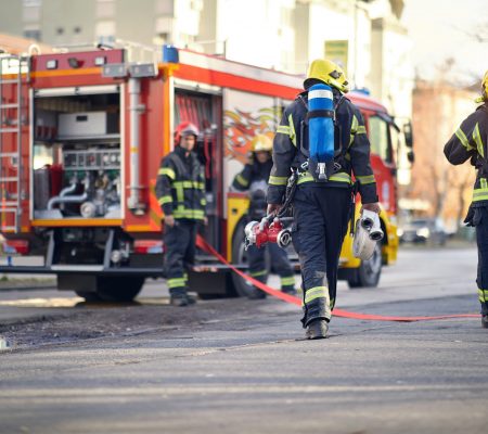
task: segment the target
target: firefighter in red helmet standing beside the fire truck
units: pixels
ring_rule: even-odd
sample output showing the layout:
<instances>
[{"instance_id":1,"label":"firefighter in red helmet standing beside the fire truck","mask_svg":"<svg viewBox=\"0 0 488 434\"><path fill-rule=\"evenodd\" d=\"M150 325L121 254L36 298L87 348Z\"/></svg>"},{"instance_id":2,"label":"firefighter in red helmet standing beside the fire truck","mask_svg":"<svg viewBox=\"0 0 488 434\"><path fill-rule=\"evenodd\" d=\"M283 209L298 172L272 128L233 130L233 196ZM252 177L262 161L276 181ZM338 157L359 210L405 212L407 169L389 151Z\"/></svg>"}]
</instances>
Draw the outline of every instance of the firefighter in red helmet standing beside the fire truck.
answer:
<instances>
[{"instance_id":1,"label":"firefighter in red helmet standing beside the fire truck","mask_svg":"<svg viewBox=\"0 0 488 434\"><path fill-rule=\"evenodd\" d=\"M165 273L175 306L195 303L188 291L187 270L193 265L198 224L205 222L205 177L192 152L197 128L182 123L176 128L175 151L159 167L156 194L164 217Z\"/></svg>"}]
</instances>

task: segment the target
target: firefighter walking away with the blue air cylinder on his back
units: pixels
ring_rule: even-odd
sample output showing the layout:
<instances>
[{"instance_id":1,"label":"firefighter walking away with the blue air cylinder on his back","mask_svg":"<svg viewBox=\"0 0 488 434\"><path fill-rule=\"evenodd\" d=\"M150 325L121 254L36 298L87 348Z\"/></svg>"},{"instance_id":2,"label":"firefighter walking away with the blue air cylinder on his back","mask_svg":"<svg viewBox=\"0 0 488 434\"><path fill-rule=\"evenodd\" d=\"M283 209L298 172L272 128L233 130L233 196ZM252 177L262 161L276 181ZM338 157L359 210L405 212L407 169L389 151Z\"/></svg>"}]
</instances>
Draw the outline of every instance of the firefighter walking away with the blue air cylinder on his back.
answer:
<instances>
[{"instance_id":1,"label":"firefighter walking away with the blue air cylinder on his back","mask_svg":"<svg viewBox=\"0 0 488 434\"><path fill-rule=\"evenodd\" d=\"M316 180L308 158L308 90L313 85L332 89L334 105L334 159L326 165L326 180ZM304 328L308 339L325 337L336 299L341 247L352 206L352 180L359 183L364 209L380 212L376 183L370 164L370 142L359 110L343 93L348 91L344 72L328 60L311 63L298 94L282 116L273 142L269 178L268 214L284 200L291 170L298 173L293 200L293 244L299 256L304 290Z\"/></svg>"}]
</instances>

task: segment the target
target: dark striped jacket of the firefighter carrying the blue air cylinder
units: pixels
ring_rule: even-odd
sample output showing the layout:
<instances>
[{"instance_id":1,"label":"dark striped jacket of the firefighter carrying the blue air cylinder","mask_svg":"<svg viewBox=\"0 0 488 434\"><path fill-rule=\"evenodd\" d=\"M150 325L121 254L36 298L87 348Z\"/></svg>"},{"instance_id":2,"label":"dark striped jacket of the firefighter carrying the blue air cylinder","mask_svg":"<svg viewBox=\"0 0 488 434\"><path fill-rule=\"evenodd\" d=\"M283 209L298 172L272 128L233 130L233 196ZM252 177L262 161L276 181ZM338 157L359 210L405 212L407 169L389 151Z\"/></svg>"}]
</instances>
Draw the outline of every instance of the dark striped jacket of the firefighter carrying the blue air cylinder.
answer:
<instances>
[{"instance_id":1,"label":"dark striped jacket of the firefighter carrying the blue air cylinder","mask_svg":"<svg viewBox=\"0 0 488 434\"><path fill-rule=\"evenodd\" d=\"M301 124L306 119L307 107L300 98L306 101L307 93L303 92L290 104L277 129L273 141L273 168L269 178L268 203L281 204L286 191L286 181L291 168L300 167L307 161L301 149ZM334 90L334 101L337 103L341 94ZM362 203L377 202L376 182L370 163L370 141L368 140L364 120L361 112L347 98L344 98L336 108L336 145L342 143L343 152L339 156L342 168L332 175L328 182L316 182L313 177L306 173L298 183L312 182L317 187L348 188L351 184L351 174L359 181L359 193ZM307 129L305 130L307 131ZM341 138L337 131L341 131ZM306 135L305 135L306 136ZM304 148L308 149L305 137Z\"/></svg>"}]
</instances>

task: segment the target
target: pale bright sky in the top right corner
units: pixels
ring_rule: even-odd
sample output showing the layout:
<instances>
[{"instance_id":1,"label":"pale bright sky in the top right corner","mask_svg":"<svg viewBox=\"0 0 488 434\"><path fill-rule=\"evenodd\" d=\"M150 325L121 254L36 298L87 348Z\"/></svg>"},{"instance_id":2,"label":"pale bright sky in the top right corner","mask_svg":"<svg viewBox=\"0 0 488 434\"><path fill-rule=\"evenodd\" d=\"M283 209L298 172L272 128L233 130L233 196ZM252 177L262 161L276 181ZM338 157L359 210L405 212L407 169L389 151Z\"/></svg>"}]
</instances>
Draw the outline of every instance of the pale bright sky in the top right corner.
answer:
<instances>
[{"instance_id":1,"label":"pale bright sky in the top right corner","mask_svg":"<svg viewBox=\"0 0 488 434\"><path fill-rule=\"evenodd\" d=\"M434 78L439 65L454 60L454 77L476 82L488 69L486 0L404 0L402 22L413 40L412 60L421 78ZM478 42L472 35L485 36Z\"/></svg>"}]
</instances>

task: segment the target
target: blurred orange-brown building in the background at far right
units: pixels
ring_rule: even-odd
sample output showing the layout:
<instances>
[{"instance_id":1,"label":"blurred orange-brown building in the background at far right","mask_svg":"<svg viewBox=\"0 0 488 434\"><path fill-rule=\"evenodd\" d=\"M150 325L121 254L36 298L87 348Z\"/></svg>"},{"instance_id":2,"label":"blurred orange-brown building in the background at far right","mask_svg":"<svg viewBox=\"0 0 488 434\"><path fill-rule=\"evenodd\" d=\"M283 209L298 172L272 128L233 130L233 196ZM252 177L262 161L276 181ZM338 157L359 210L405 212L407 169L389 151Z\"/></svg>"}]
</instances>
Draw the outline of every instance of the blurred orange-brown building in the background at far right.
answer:
<instances>
[{"instance_id":1,"label":"blurred orange-brown building in the background at far right","mask_svg":"<svg viewBox=\"0 0 488 434\"><path fill-rule=\"evenodd\" d=\"M468 163L451 166L444 145L472 113L477 93L444 79L418 80L413 91L415 164L408 188L412 214L440 217L451 230L459 228L473 193L475 170Z\"/></svg>"}]
</instances>

